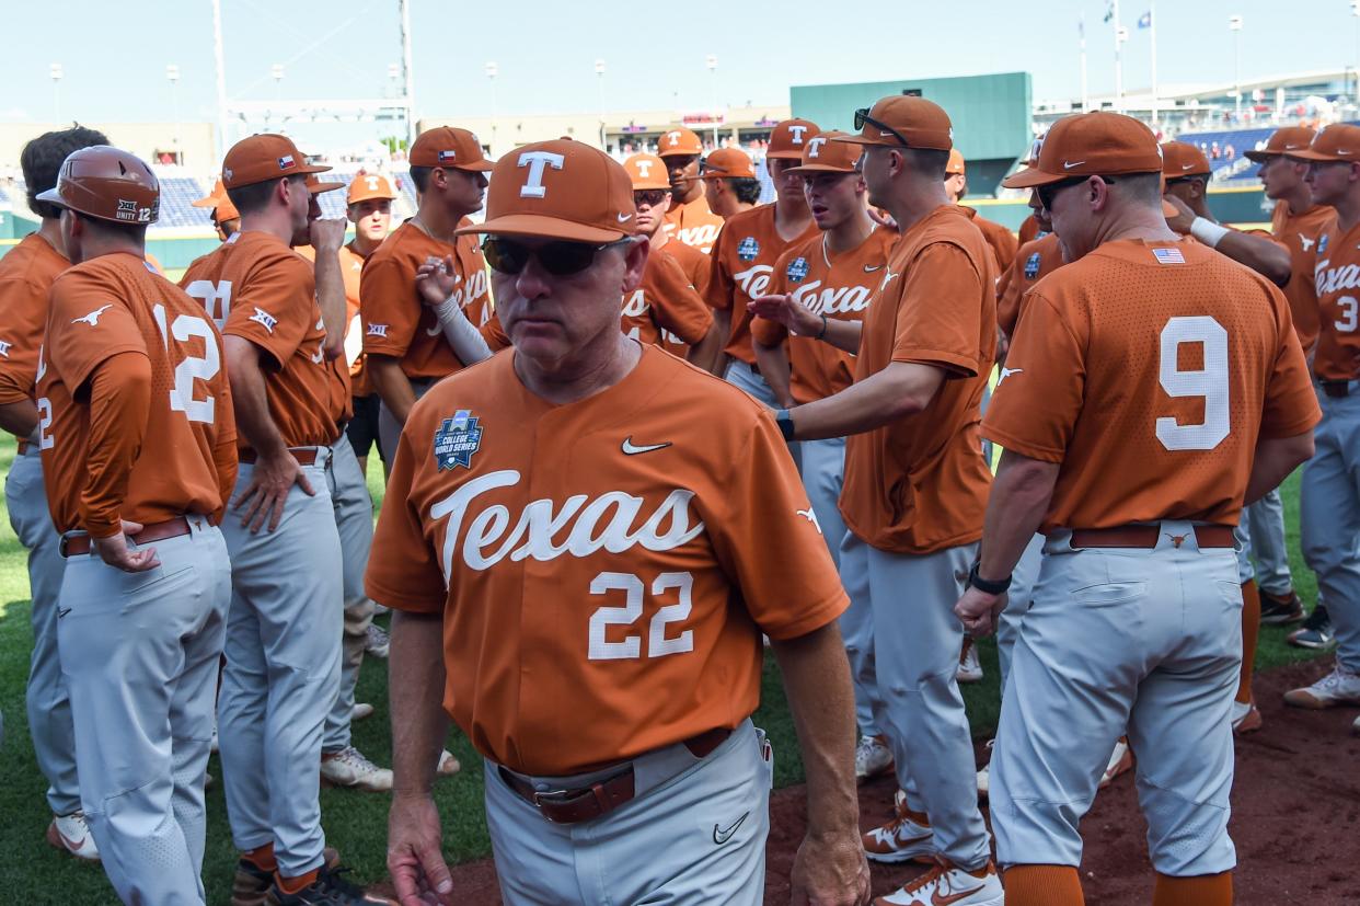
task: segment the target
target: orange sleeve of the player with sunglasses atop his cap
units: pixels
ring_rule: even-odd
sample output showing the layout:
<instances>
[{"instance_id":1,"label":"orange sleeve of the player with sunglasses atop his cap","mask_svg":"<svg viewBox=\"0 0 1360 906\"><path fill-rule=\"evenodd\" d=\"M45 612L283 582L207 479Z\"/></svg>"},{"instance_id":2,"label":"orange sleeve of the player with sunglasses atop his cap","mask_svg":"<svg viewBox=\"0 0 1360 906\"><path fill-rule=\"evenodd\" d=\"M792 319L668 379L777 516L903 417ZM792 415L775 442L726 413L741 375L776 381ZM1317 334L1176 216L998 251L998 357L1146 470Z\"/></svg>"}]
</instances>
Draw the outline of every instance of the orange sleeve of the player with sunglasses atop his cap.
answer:
<instances>
[{"instance_id":1,"label":"orange sleeve of the player with sunglasses atop his cap","mask_svg":"<svg viewBox=\"0 0 1360 906\"><path fill-rule=\"evenodd\" d=\"M975 303L982 298L982 275L968 254L952 242L928 245L902 280L892 360L975 377L982 352L982 309Z\"/></svg>"}]
</instances>

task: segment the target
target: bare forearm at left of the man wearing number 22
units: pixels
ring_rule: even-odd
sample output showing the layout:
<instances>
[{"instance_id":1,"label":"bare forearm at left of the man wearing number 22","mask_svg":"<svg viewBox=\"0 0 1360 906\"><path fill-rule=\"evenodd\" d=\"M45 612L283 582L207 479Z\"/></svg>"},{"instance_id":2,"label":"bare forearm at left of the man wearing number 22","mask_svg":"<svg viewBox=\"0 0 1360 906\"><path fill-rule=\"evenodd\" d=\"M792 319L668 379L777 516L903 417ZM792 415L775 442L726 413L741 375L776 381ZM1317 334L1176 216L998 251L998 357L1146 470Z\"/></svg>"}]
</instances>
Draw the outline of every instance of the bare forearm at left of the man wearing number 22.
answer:
<instances>
[{"instance_id":1,"label":"bare forearm at left of the man wearing number 22","mask_svg":"<svg viewBox=\"0 0 1360 906\"><path fill-rule=\"evenodd\" d=\"M392 614L388 673L393 792L428 793L449 733L449 716L443 710L442 616Z\"/></svg>"}]
</instances>

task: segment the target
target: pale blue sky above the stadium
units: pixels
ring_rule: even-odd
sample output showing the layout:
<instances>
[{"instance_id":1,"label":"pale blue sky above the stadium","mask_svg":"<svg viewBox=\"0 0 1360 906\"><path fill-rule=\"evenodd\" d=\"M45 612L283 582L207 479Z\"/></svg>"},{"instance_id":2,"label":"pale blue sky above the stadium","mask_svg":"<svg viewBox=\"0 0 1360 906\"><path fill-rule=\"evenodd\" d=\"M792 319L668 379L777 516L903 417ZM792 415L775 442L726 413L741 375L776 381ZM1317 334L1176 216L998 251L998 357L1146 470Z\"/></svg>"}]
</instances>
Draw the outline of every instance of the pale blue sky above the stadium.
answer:
<instances>
[{"instance_id":1,"label":"pale blue sky above the stadium","mask_svg":"<svg viewBox=\"0 0 1360 906\"><path fill-rule=\"evenodd\" d=\"M373 98L390 94L400 60L397 0L279 4L222 0L233 99ZM1114 87L1107 0L775 0L734 4L597 0L411 0L416 116L593 112L605 61L608 110L707 110L787 103L789 86L1028 71L1035 99L1080 95L1078 20L1089 90ZM1149 0L1123 0L1126 90L1149 84ZM0 0L0 120L170 121L166 64L180 67L180 117L215 121L209 0ZM306 10L318 10L307 15ZM1161 0L1161 86L1231 83L1243 16L1243 80L1356 65L1360 19L1349 0ZM60 27L54 27L60 23ZM48 39L60 35L60 44ZM706 57L718 60L715 75ZM486 64L495 61L492 90ZM54 91L50 64L63 68ZM275 83L271 67L283 64ZM60 98L57 97L60 94ZM356 131L378 127L359 125ZM355 139L378 137L356 135Z\"/></svg>"}]
</instances>

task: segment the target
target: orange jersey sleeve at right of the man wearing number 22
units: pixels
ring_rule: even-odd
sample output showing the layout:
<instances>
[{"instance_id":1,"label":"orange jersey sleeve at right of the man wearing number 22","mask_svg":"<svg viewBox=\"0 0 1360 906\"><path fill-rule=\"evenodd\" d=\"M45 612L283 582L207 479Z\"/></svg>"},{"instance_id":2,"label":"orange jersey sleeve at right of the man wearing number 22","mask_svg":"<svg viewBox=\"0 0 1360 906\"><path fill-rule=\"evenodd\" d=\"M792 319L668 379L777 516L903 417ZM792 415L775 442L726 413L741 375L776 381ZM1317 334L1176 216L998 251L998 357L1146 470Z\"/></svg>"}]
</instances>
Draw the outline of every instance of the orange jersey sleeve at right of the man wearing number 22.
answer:
<instances>
[{"instance_id":1,"label":"orange jersey sleeve at right of the man wearing number 22","mask_svg":"<svg viewBox=\"0 0 1360 906\"><path fill-rule=\"evenodd\" d=\"M718 560L770 638L806 635L849 605L798 471L768 414L756 414L747 449L704 510Z\"/></svg>"}]
</instances>

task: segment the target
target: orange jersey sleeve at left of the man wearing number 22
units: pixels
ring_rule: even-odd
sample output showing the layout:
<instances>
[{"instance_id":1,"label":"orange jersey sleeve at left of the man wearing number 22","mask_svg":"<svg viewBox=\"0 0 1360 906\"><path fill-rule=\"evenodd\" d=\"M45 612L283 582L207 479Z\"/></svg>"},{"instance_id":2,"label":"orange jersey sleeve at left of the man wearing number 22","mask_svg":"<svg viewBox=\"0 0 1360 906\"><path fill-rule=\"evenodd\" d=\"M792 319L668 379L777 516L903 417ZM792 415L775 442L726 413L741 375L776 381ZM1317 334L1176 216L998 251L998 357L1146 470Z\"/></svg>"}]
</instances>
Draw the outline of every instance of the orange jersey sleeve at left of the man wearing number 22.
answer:
<instances>
[{"instance_id":1,"label":"orange jersey sleeve at left of the man wearing number 22","mask_svg":"<svg viewBox=\"0 0 1360 906\"><path fill-rule=\"evenodd\" d=\"M397 443L386 503L373 533L364 589L374 601L398 611L439 614L449 599L447 585L439 558L424 536L420 505L411 494L418 464L431 461L434 429L420 416L422 408L416 401Z\"/></svg>"}]
</instances>

